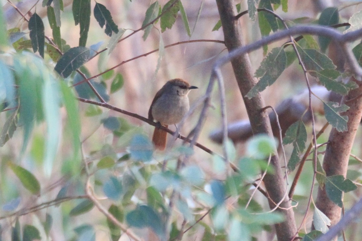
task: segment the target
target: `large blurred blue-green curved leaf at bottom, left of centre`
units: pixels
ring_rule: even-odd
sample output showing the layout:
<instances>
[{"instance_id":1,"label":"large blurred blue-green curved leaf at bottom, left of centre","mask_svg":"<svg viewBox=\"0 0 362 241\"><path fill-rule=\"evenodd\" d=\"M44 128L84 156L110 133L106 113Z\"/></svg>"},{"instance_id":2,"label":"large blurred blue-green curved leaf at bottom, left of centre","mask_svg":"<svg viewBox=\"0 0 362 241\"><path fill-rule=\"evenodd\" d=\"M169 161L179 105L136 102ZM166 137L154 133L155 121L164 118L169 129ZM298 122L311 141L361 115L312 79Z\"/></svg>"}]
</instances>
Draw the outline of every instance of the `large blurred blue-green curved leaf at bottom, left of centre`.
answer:
<instances>
[{"instance_id":1,"label":"large blurred blue-green curved leaf at bottom, left of centre","mask_svg":"<svg viewBox=\"0 0 362 241\"><path fill-rule=\"evenodd\" d=\"M159 235L164 232L163 221L160 215L146 205L138 206L135 210L129 212L126 216L126 221L131 227L150 227Z\"/></svg>"}]
</instances>

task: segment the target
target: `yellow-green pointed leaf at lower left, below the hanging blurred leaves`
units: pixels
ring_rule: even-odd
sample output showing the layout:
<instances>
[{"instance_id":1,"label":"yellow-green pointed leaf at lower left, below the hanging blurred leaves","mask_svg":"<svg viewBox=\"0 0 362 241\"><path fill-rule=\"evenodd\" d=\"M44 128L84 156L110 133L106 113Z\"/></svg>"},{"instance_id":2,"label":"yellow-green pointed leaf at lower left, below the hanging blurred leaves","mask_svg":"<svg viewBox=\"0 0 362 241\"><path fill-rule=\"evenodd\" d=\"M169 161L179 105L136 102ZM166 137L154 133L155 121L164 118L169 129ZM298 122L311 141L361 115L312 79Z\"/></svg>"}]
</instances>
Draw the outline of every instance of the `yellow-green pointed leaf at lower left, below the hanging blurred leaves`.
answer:
<instances>
[{"instance_id":1,"label":"yellow-green pointed leaf at lower left, below the hanging blurred leaves","mask_svg":"<svg viewBox=\"0 0 362 241\"><path fill-rule=\"evenodd\" d=\"M33 174L31 174L31 172L11 162L9 162L9 167L19 178L24 188L28 189L34 195L40 193L40 184L37 178Z\"/></svg>"}]
</instances>

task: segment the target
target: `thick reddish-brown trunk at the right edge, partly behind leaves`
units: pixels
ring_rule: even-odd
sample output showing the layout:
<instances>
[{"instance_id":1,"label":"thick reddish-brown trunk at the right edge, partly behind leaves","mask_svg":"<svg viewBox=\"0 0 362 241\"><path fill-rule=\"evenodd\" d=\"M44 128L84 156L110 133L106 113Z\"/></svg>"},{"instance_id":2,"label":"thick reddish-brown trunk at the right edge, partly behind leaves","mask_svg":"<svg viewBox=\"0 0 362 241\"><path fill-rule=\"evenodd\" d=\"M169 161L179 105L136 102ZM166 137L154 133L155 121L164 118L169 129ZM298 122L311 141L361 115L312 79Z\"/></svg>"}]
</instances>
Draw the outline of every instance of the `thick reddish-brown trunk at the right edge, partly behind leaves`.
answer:
<instances>
[{"instance_id":1,"label":"thick reddish-brown trunk at the right edge, partly behind leaves","mask_svg":"<svg viewBox=\"0 0 362 241\"><path fill-rule=\"evenodd\" d=\"M347 173L349 154L362 117L362 84L359 81L355 82L359 88L351 90L343 101L350 109L341 113L348 116L348 131L338 132L333 128L329 135L323 161L323 169L327 176L343 175L345 177ZM338 223L342 209L328 198L325 188L319 187L316 206L331 219L332 226Z\"/></svg>"}]
</instances>

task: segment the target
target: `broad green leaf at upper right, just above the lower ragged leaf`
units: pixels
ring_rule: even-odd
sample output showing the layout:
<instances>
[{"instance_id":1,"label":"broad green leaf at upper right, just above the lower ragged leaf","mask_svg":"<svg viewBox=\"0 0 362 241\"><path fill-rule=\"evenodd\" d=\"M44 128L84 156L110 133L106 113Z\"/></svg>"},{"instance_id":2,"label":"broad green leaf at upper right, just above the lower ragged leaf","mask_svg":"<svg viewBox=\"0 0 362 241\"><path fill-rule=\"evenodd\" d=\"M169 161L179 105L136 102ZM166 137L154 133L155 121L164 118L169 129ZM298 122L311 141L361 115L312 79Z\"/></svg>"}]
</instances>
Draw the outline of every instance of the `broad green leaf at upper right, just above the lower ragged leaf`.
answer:
<instances>
[{"instance_id":1,"label":"broad green leaf at upper right, just above the lower ragged leaf","mask_svg":"<svg viewBox=\"0 0 362 241\"><path fill-rule=\"evenodd\" d=\"M303 61L304 66L308 71L320 71L323 69L335 69L333 61L324 53L314 49L301 48L297 45L297 50Z\"/></svg>"}]
</instances>

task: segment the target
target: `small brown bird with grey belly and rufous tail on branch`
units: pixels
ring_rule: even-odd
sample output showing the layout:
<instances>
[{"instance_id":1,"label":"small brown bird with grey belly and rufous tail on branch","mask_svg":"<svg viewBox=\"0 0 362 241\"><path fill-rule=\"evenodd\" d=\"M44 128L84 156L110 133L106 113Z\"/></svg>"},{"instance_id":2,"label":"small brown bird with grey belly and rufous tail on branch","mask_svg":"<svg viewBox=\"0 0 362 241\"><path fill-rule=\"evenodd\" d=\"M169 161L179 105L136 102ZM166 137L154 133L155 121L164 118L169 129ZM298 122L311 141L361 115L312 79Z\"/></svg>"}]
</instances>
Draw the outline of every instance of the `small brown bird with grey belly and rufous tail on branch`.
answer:
<instances>
[{"instance_id":1,"label":"small brown bird with grey belly and rufous tail on branch","mask_svg":"<svg viewBox=\"0 0 362 241\"><path fill-rule=\"evenodd\" d=\"M189 97L187 96L191 89L198 89L191 86L182 79L171 79L156 93L153 98L148 119L158 121L161 125L168 128L168 125L177 124L182 117L189 111ZM152 136L152 142L155 148L165 150L167 132L160 128L155 128Z\"/></svg>"}]
</instances>

